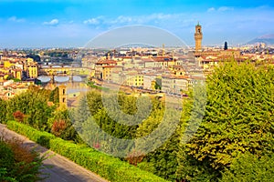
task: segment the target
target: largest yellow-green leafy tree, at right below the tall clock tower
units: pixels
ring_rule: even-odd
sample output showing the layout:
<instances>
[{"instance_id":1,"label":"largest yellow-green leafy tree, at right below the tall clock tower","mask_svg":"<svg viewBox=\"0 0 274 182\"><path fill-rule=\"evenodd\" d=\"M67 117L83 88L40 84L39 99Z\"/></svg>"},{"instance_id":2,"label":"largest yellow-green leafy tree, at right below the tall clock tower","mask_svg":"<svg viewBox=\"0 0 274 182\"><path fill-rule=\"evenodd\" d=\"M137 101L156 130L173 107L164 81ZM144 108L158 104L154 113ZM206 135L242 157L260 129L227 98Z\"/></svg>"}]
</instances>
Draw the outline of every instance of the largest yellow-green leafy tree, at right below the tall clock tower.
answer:
<instances>
[{"instance_id":1,"label":"largest yellow-green leafy tree, at right below the tall clock tower","mask_svg":"<svg viewBox=\"0 0 274 182\"><path fill-rule=\"evenodd\" d=\"M188 155L222 171L245 152L262 157L274 147L274 70L227 63L207 78L205 116Z\"/></svg>"}]
</instances>

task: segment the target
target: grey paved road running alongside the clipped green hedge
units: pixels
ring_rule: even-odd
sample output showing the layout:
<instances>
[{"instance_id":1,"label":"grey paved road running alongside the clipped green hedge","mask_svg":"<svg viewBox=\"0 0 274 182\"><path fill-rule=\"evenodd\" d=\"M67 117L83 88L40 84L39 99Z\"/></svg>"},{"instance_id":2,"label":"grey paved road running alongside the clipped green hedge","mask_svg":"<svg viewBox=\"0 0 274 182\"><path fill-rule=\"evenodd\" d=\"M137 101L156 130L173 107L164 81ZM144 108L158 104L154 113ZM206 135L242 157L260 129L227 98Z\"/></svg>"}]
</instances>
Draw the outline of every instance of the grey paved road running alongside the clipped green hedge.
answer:
<instances>
[{"instance_id":1,"label":"grey paved road running alongside the clipped green hedge","mask_svg":"<svg viewBox=\"0 0 274 182\"><path fill-rule=\"evenodd\" d=\"M24 140L24 145L28 147L35 147L35 150L41 155L48 153L48 157L44 163L43 172L49 174L50 176L43 180L44 182L79 182L79 181L89 181L89 182L107 182L107 180L99 177L98 175L90 172L84 167L80 167L74 162L68 160L66 157L62 157L45 147L41 147L34 143L33 141L26 138L26 136L21 136L16 134L16 132L8 130L4 125L0 124L0 136L5 135L7 137L17 137Z\"/></svg>"}]
</instances>

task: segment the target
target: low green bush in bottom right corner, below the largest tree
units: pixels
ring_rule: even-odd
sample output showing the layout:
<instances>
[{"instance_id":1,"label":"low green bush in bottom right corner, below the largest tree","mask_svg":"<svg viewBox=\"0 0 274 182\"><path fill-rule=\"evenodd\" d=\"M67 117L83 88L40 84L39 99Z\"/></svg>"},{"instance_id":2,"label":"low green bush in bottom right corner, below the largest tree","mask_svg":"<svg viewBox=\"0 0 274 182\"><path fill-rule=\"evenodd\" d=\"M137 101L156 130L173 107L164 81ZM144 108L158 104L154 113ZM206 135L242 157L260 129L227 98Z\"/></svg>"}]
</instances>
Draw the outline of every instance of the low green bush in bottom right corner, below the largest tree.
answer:
<instances>
[{"instance_id":1,"label":"low green bush in bottom right corner, below the largest tree","mask_svg":"<svg viewBox=\"0 0 274 182\"><path fill-rule=\"evenodd\" d=\"M240 155L225 170L220 181L269 182L274 179L274 155L256 157L250 153Z\"/></svg>"}]
</instances>

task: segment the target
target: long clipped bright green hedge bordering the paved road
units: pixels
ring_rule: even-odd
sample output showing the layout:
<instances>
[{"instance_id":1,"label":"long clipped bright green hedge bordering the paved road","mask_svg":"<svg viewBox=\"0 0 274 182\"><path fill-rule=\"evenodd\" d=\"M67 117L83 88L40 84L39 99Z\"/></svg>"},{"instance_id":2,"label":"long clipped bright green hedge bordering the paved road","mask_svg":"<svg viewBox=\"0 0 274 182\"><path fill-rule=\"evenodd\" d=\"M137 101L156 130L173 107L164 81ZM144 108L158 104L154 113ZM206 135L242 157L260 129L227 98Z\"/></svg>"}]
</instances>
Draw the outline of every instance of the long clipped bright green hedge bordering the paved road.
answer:
<instances>
[{"instance_id":1,"label":"long clipped bright green hedge bordering the paved road","mask_svg":"<svg viewBox=\"0 0 274 182\"><path fill-rule=\"evenodd\" d=\"M8 121L7 127L63 157L68 157L73 162L110 181L166 181L150 172L123 162L119 158L102 154L91 147L71 143L47 132L38 131L31 126L26 126L16 121Z\"/></svg>"}]
</instances>

